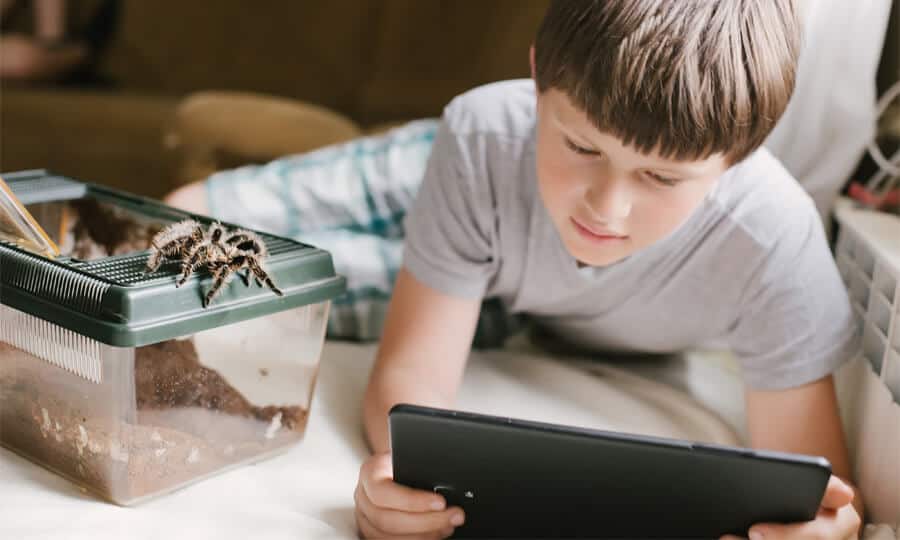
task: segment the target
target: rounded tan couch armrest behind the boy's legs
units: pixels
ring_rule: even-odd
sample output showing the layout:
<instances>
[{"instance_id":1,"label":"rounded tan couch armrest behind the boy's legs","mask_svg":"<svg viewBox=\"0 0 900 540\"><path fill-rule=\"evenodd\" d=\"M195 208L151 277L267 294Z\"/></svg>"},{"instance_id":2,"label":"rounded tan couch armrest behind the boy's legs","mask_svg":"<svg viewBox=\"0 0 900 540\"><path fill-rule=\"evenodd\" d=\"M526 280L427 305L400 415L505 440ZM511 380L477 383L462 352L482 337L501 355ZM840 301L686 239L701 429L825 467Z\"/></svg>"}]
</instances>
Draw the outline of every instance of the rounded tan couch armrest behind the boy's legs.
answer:
<instances>
[{"instance_id":1,"label":"rounded tan couch armrest behind the boy's legs","mask_svg":"<svg viewBox=\"0 0 900 540\"><path fill-rule=\"evenodd\" d=\"M243 92L200 92L177 107L165 134L175 185L247 163L307 152L361 135L324 107Z\"/></svg>"}]
</instances>

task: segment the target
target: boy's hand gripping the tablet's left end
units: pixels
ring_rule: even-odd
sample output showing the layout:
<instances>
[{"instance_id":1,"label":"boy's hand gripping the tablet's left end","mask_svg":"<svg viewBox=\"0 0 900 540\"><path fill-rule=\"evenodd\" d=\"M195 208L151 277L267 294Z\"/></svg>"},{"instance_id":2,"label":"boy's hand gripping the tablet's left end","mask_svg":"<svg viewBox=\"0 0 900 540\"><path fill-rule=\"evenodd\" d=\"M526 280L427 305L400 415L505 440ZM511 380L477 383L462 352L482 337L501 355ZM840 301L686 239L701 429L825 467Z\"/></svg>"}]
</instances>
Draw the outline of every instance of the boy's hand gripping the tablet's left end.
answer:
<instances>
[{"instance_id":1,"label":"boy's hand gripping the tablet's left end","mask_svg":"<svg viewBox=\"0 0 900 540\"><path fill-rule=\"evenodd\" d=\"M395 483L390 452L362 464L353 499L363 538L446 538L465 519L461 508L446 508L440 495Z\"/></svg>"}]
</instances>

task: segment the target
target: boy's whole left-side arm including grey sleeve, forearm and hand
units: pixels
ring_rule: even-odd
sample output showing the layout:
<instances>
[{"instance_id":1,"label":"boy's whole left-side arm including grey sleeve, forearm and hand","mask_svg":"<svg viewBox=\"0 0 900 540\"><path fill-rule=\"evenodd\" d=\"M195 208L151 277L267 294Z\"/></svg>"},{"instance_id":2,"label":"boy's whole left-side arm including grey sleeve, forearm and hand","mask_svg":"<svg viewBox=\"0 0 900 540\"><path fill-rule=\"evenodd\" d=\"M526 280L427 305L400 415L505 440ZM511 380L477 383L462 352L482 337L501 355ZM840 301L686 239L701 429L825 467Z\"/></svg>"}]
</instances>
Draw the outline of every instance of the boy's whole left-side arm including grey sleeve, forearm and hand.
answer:
<instances>
[{"instance_id":1,"label":"boy's whole left-side arm including grey sleeve, forearm and hand","mask_svg":"<svg viewBox=\"0 0 900 540\"><path fill-rule=\"evenodd\" d=\"M447 111L452 118L452 106ZM462 509L447 508L442 496L394 482L387 420L400 402L450 405L462 380L496 261L496 214L472 152L446 119L441 122L406 217L403 269L363 400L375 452L360 468L355 495L356 521L366 538L443 538L465 521Z\"/></svg>"}]
</instances>

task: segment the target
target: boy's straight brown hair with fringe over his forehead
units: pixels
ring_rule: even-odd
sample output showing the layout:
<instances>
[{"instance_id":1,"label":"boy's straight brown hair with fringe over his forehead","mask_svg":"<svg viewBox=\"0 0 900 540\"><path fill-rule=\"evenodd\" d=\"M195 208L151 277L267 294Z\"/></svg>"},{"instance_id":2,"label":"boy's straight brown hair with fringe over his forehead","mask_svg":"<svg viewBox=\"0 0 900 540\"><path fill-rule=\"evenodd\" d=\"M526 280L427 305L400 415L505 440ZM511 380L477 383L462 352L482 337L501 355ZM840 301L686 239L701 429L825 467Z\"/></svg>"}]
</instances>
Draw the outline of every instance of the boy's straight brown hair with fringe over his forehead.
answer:
<instances>
[{"instance_id":1,"label":"boy's straight brown hair with fringe over his forehead","mask_svg":"<svg viewBox=\"0 0 900 540\"><path fill-rule=\"evenodd\" d=\"M787 107L799 49L795 0L553 0L535 81L639 151L735 163Z\"/></svg>"}]
</instances>

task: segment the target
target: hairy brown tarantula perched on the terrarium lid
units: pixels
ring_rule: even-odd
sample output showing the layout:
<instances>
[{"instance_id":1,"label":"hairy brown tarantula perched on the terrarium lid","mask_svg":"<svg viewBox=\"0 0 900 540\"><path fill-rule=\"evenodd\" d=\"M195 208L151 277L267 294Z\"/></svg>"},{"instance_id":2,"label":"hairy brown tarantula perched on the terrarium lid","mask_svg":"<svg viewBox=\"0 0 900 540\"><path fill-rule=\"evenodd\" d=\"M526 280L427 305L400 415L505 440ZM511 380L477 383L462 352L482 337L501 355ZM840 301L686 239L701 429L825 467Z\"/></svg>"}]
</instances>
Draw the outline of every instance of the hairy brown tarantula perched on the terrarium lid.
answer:
<instances>
[{"instance_id":1,"label":"hairy brown tarantula perched on the terrarium lid","mask_svg":"<svg viewBox=\"0 0 900 540\"><path fill-rule=\"evenodd\" d=\"M203 307L213 301L235 274L248 287L253 274L257 285L261 287L265 283L275 294L283 296L263 268L268 255L266 244L254 232L229 231L221 223L204 229L197 221L188 219L166 227L153 237L147 271L157 271L165 260L181 261L181 275L175 282L180 287L197 268L206 266L213 276L213 285L203 298ZM242 269L246 269L244 274L240 273Z\"/></svg>"}]
</instances>

